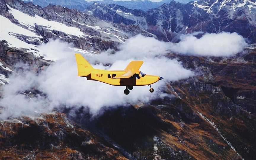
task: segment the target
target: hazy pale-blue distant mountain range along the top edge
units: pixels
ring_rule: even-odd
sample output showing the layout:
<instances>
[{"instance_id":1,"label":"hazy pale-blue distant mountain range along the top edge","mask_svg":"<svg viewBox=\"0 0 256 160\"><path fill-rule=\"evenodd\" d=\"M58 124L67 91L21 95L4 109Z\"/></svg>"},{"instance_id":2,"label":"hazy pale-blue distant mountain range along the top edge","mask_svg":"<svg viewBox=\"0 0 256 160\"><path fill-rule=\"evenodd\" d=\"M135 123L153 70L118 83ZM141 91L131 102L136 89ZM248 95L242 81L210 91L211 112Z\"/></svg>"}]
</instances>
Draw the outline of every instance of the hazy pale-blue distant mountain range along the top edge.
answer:
<instances>
[{"instance_id":1,"label":"hazy pale-blue distant mountain range along the top edge","mask_svg":"<svg viewBox=\"0 0 256 160\"><path fill-rule=\"evenodd\" d=\"M147 11L152 8L158 8L164 3L170 3L173 0L163 0L160 2L152 2L152 1L113 1L113 0L103 0L103 1L84 1L84 0L26 0L25 3L33 2L35 5L39 5L41 7L46 7L49 4L61 5L64 7L68 7L70 9L78 9L83 11L86 7L92 5L94 2L101 4L118 4L121 6L125 6L129 9L141 9L143 11ZM191 0L176 0L176 2L180 3L188 3Z\"/></svg>"}]
</instances>

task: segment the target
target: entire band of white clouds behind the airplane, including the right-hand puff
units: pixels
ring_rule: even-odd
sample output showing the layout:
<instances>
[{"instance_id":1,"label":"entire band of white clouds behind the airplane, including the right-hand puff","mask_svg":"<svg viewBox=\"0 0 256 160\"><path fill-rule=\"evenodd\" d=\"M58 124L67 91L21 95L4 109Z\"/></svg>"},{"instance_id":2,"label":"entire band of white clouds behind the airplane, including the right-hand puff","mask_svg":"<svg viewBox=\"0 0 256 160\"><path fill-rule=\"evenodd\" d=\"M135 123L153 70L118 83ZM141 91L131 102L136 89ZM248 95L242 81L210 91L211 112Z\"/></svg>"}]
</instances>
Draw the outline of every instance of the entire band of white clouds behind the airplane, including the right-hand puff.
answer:
<instances>
[{"instance_id":1,"label":"entire band of white clouds behind the airplane, including the right-hand puff","mask_svg":"<svg viewBox=\"0 0 256 160\"><path fill-rule=\"evenodd\" d=\"M241 52L247 43L237 33L222 32L205 34L196 38L195 34L182 35L179 43L165 43L152 37L137 35L119 46L119 51L107 50L101 54L84 57L94 68L122 70L130 61L144 61L140 71L145 74L159 75L164 80L149 86L135 86L129 95L123 93L124 86L111 86L98 81L88 81L77 76L77 66L72 44L51 40L41 45L40 50L47 59L56 61L39 75L25 70L12 74L8 85L3 87L0 99L0 119L34 116L36 113L52 112L54 108L81 106L89 107L96 114L102 107L150 102L152 99L169 96L161 92L166 81L177 81L195 75L183 68L177 59L165 55L172 50L176 53L198 56L227 57ZM26 66L23 65L26 68ZM24 91L38 89L44 94L28 96Z\"/></svg>"}]
</instances>

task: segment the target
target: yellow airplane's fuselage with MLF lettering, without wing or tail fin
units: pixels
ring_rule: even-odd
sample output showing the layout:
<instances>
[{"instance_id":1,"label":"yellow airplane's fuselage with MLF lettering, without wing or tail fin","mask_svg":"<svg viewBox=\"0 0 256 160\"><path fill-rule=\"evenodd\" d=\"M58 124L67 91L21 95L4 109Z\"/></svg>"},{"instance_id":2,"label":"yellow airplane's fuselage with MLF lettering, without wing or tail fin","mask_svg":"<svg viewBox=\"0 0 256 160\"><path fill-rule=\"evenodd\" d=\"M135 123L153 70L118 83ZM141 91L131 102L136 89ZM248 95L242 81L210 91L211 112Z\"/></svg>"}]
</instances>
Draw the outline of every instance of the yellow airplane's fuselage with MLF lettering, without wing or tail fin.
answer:
<instances>
[{"instance_id":1,"label":"yellow airplane's fuselage with MLF lettering, without wing or tail fin","mask_svg":"<svg viewBox=\"0 0 256 160\"><path fill-rule=\"evenodd\" d=\"M94 69L87 77L87 80L100 81L113 86L144 86L159 81L159 76L144 75L132 76L130 78L115 78L115 76L123 75L125 71L108 71ZM138 77L139 76L139 77Z\"/></svg>"}]
</instances>

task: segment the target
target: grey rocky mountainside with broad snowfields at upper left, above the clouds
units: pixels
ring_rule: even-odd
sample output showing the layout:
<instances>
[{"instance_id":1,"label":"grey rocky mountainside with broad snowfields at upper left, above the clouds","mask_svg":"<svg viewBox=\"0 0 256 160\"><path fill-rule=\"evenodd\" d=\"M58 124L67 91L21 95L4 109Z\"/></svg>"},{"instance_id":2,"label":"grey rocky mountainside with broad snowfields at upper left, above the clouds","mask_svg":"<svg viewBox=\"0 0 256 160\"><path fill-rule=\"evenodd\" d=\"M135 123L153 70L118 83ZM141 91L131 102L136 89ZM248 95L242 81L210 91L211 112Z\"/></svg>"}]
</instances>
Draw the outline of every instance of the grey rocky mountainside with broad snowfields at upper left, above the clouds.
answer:
<instances>
[{"instance_id":1,"label":"grey rocky mountainside with broad snowfields at upper left, above the clouds","mask_svg":"<svg viewBox=\"0 0 256 160\"><path fill-rule=\"evenodd\" d=\"M48 5L41 8L32 3L25 4L16 0L6 3L1 1L0 18L1 40L6 40L11 47L25 48L27 52L36 56L42 56L37 46L51 38L72 42L74 48L90 54L106 48L115 48L118 43L123 43L136 32L154 36L136 26L129 27L133 30L132 33L129 33L129 30L121 32L122 25L114 27L93 16L62 6ZM112 43L97 46L98 41L104 40L110 40Z\"/></svg>"}]
</instances>

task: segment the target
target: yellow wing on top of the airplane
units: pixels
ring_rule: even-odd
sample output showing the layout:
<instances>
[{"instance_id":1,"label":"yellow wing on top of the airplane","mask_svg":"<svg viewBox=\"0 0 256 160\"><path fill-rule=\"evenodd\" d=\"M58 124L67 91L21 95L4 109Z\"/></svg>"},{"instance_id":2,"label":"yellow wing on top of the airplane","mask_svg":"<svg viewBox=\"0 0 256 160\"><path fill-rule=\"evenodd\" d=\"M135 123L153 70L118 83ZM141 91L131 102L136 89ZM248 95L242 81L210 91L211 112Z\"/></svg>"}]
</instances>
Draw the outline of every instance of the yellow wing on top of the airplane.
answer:
<instances>
[{"instance_id":1,"label":"yellow wing on top of the airplane","mask_svg":"<svg viewBox=\"0 0 256 160\"><path fill-rule=\"evenodd\" d=\"M124 69L125 73L121 76L115 76L113 78L130 78L134 74L139 73L139 69L142 66L143 61L131 61Z\"/></svg>"}]
</instances>

